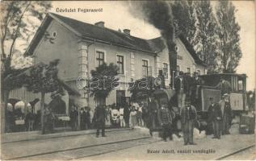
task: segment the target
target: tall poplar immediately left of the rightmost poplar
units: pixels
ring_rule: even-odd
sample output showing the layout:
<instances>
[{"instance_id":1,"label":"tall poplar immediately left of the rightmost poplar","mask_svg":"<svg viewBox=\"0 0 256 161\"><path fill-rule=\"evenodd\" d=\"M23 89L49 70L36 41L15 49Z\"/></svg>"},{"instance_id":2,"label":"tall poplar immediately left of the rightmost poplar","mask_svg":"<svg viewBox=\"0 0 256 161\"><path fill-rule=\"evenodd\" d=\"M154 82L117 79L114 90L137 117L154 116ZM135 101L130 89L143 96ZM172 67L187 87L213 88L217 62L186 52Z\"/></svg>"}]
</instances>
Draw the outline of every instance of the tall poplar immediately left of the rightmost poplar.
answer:
<instances>
[{"instance_id":1,"label":"tall poplar immediately left of the rightmost poplar","mask_svg":"<svg viewBox=\"0 0 256 161\"><path fill-rule=\"evenodd\" d=\"M216 68L216 19L210 1L195 2L197 21L195 23L197 44L195 51L201 60L208 65L208 72Z\"/></svg>"}]
</instances>

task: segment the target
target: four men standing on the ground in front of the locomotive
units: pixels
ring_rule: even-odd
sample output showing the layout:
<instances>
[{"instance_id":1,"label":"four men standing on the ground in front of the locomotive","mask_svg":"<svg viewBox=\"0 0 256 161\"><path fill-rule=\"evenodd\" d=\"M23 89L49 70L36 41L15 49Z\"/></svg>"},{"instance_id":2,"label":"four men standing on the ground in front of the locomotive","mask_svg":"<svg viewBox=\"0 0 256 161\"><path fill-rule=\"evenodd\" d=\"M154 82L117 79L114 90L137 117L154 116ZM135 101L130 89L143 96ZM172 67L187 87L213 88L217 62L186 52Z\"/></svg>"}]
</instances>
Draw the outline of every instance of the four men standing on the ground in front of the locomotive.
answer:
<instances>
[{"instance_id":1,"label":"four men standing on the ground in front of the locomotive","mask_svg":"<svg viewBox=\"0 0 256 161\"><path fill-rule=\"evenodd\" d=\"M208 129L212 129L213 137L220 139L220 134L230 134L229 129L232 122L232 109L229 102L229 95L225 94L220 101L214 101L210 97L211 105L208 107ZM172 136L174 130L175 113L167 108L166 103L162 103L157 112L158 122L162 127L162 138L166 141L167 137ZM194 105L191 105L189 97L185 100L184 107L180 110L180 119L183 130L184 145L195 145L193 141L194 127L197 121L197 112Z\"/></svg>"}]
</instances>

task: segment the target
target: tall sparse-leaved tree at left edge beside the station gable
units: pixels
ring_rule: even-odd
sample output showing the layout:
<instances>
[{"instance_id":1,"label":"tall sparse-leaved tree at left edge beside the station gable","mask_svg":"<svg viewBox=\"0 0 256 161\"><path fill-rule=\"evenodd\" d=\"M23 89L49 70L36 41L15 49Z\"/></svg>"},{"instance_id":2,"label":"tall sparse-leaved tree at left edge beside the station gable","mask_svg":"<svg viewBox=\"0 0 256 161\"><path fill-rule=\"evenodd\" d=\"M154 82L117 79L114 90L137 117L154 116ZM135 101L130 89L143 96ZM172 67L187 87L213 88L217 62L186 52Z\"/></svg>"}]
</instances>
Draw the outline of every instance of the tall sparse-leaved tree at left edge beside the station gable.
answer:
<instances>
[{"instance_id":1,"label":"tall sparse-leaved tree at left edge beside the station gable","mask_svg":"<svg viewBox=\"0 0 256 161\"><path fill-rule=\"evenodd\" d=\"M19 74L19 70L15 71L11 68L11 60L15 51L18 50L17 42L22 40L28 41L30 36L36 31L36 23L33 20L42 20L44 14L51 8L51 2L18 2L6 1L1 2L1 102L5 102L2 111L2 120L5 119L5 109L7 108L7 100L10 90L13 89L9 85L15 76ZM4 129L4 124L2 122ZM3 132L3 130L2 130Z\"/></svg>"}]
</instances>

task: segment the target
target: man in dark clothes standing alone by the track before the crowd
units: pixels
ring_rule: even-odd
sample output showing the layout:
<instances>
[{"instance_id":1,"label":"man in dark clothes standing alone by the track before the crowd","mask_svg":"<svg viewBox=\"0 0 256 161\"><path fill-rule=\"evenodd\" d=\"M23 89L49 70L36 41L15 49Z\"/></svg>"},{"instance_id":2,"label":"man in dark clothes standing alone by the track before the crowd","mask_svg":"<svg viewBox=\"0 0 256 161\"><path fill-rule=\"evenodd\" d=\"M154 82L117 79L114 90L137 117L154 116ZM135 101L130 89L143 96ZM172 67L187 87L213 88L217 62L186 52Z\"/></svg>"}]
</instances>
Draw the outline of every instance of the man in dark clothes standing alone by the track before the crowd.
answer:
<instances>
[{"instance_id":1,"label":"man in dark clothes standing alone by the track before the crowd","mask_svg":"<svg viewBox=\"0 0 256 161\"><path fill-rule=\"evenodd\" d=\"M102 137L106 137L105 135L105 118L107 117L106 115L106 109L104 108L105 105L98 105L95 109L94 112L94 121L97 126L97 133L96 137L99 138L99 130L102 130Z\"/></svg>"}]
</instances>

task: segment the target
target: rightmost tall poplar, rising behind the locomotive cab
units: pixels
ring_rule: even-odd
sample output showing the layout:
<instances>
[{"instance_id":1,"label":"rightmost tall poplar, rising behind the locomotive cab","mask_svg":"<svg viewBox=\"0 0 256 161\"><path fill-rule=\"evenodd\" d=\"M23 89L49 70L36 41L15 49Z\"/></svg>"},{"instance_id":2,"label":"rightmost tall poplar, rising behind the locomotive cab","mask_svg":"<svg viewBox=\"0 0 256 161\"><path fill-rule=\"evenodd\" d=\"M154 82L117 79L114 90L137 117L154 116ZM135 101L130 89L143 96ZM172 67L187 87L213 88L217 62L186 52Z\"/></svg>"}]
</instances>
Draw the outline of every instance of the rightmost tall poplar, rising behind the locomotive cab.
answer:
<instances>
[{"instance_id":1,"label":"rightmost tall poplar, rising behind the locomotive cab","mask_svg":"<svg viewBox=\"0 0 256 161\"><path fill-rule=\"evenodd\" d=\"M240 26L235 17L236 11L236 7L229 1L219 1L216 6L219 72L236 72L241 59Z\"/></svg>"}]
</instances>

